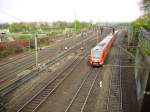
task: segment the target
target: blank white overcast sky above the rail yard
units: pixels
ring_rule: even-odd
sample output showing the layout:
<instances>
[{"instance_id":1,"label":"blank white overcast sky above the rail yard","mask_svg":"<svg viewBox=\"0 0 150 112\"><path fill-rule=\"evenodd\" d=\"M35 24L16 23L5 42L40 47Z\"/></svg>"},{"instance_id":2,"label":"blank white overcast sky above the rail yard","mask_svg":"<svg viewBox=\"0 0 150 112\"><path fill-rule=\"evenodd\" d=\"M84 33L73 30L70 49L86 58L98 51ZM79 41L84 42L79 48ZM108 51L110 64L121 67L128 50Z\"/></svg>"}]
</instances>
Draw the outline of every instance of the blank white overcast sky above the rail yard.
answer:
<instances>
[{"instance_id":1,"label":"blank white overcast sky above the rail yard","mask_svg":"<svg viewBox=\"0 0 150 112\"><path fill-rule=\"evenodd\" d=\"M141 15L140 0L0 0L0 22L126 22Z\"/></svg>"}]
</instances>

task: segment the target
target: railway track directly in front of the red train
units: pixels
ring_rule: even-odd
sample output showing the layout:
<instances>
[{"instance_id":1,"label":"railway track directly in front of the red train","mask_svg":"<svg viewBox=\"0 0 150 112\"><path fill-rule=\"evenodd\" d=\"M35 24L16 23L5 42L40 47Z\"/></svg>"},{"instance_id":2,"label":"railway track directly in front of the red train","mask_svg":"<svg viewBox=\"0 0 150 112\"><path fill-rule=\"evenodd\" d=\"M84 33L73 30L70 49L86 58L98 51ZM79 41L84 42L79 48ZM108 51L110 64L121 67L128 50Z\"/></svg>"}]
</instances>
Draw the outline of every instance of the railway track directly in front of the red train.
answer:
<instances>
[{"instance_id":1,"label":"railway track directly in front of the red train","mask_svg":"<svg viewBox=\"0 0 150 112\"><path fill-rule=\"evenodd\" d=\"M86 77L82 81L65 112L83 112L99 72L97 68L94 68L86 73Z\"/></svg>"}]
</instances>

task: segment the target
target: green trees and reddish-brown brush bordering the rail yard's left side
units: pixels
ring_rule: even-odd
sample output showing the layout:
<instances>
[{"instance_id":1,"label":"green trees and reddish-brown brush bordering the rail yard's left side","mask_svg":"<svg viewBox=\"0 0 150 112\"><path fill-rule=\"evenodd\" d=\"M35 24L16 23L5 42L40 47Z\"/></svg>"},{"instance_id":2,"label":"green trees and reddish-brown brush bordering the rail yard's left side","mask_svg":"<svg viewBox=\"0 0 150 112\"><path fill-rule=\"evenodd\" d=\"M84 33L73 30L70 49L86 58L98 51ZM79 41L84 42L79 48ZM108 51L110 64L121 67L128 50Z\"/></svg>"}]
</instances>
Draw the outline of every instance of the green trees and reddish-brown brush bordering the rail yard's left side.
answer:
<instances>
[{"instance_id":1,"label":"green trees and reddish-brown brush bordering the rail yard's left side","mask_svg":"<svg viewBox=\"0 0 150 112\"><path fill-rule=\"evenodd\" d=\"M12 24L0 24L0 30L9 30L6 34L0 34L0 58L14 55L27 50L34 49L35 34L40 35L38 38L39 47L48 46L54 43L53 37L57 35L72 34L80 32L82 29L91 28L92 23L56 21L53 23L47 22L20 22ZM8 37L13 38L13 41L8 41Z\"/></svg>"}]
</instances>

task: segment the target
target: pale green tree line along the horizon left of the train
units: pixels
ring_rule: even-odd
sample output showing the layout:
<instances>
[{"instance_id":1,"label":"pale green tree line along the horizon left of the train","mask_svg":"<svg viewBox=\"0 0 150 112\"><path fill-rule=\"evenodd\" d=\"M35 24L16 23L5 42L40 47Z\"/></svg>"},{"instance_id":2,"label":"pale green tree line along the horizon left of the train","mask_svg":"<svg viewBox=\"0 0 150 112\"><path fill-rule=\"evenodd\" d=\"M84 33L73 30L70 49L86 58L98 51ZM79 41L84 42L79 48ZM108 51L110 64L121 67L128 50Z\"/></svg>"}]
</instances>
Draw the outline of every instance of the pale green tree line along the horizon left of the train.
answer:
<instances>
[{"instance_id":1,"label":"pale green tree line along the horizon left of the train","mask_svg":"<svg viewBox=\"0 0 150 112\"><path fill-rule=\"evenodd\" d=\"M11 33L32 33L32 32L39 32L39 31L51 31L53 29L65 29L65 28L72 28L76 30L80 30L83 28L89 28L92 26L90 22L81 22L79 20L75 20L74 22L65 22L65 21L56 21L53 23L48 22L20 22L20 23L12 23L12 24L0 24L0 29L9 29Z\"/></svg>"}]
</instances>

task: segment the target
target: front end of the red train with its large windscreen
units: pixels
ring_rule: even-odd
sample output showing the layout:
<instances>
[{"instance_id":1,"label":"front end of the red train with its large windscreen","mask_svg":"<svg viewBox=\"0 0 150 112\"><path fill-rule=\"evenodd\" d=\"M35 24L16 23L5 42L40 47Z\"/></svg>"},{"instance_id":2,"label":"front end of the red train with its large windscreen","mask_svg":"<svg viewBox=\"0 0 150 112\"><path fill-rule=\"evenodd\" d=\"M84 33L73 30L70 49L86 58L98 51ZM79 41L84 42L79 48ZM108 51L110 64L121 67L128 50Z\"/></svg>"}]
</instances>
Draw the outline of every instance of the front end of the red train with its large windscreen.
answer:
<instances>
[{"instance_id":1,"label":"front end of the red train with its large windscreen","mask_svg":"<svg viewBox=\"0 0 150 112\"><path fill-rule=\"evenodd\" d=\"M90 53L90 64L92 66L100 66L102 65L102 60L101 60L101 49L99 47L95 47L91 49Z\"/></svg>"}]
</instances>

